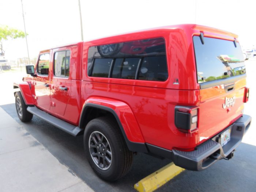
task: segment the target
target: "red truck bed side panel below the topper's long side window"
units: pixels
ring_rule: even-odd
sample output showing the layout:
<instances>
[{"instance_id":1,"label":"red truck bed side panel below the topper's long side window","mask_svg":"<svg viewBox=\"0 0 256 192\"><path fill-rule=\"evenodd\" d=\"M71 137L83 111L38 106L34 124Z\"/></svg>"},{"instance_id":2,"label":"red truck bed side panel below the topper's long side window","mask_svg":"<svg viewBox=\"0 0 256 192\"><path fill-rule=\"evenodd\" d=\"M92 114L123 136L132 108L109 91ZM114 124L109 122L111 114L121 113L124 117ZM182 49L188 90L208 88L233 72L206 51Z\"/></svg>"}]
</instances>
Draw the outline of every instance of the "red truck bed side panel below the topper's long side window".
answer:
<instances>
[{"instance_id":1,"label":"red truck bed side panel below the topper's long side window","mask_svg":"<svg viewBox=\"0 0 256 192\"><path fill-rule=\"evenodd\" d=\"M131 141L133 142L141 142L139 135L142 133L146 143L166 149L172 149L173 146L178 148L193 148L196 146L197 132L187 134L178 131L173 119L174 107L177 103L199 104L198 90L178 91L120 84L82 82L82 102L87 102L88 100L85 98L88 97L89 101L93 102L95 98L101 97L101 95L108 95L108 98L101 98L104 99L103 103L97 99L94 101L95 103L111 107L112 109L115 108L115 105L121 103L123 111L128 111L131 115L128 121L127 118L124 118L123 113L117 113L120 120L124 118L124 120L121 120L121 123L129 140L132 138ZM113 104L113 99L115 99L115 102L118 102ZM124 105L126 106L125 108L123 108ZM114 110L116 111L116 109ZM141 130L141 133L139 130Z\"/></svg>"}]
</instances>

